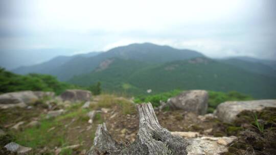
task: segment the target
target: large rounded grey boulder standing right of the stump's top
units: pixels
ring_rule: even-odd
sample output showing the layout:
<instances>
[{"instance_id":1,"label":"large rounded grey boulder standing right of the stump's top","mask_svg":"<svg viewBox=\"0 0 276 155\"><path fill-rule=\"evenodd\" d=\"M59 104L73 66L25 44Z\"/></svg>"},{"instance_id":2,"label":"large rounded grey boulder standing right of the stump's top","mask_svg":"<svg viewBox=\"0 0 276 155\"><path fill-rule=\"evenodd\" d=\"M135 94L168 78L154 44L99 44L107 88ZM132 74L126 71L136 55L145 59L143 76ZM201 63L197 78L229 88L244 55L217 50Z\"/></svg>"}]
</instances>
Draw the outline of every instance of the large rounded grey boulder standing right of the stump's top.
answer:
<instances>
[{"instance_id":1,"label":"large rounded grey boulder standing right of the stump's top","mask_svg":"<svg viewBox=\"0 0 276 155\"><path fill-rule=\"evenodd\" d=\"M169 98L167 102L172 109L204 115L208 108L208 98L208 92L205 90L190 90Z\"/></svg>"}]
</instances>

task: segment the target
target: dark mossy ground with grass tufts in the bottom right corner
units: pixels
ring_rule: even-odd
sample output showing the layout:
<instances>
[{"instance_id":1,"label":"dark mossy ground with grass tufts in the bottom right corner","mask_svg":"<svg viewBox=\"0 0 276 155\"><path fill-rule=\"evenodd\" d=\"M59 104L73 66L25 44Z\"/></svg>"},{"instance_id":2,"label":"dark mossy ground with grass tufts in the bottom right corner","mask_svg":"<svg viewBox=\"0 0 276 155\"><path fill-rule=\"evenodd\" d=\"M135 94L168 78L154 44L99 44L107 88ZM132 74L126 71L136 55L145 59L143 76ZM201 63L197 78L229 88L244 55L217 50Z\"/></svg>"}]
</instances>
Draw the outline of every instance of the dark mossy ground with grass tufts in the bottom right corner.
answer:
<instances>
[{"instance_id":1,"label":"dark mossy ground with grass tufts in the bottom right corner","mask_svg":"<svg viewBox=\"0 0 276 155\"><path fill-rule=\"evenodd\" d=\"M220 131L220 136L239 138L225 154L240 154L250 149L259 154L275 152L276 108L265 108L254 113L243 111L237 117L232 124L218 122L214 127L215 131Z\"/></svg>"}]
</instances>

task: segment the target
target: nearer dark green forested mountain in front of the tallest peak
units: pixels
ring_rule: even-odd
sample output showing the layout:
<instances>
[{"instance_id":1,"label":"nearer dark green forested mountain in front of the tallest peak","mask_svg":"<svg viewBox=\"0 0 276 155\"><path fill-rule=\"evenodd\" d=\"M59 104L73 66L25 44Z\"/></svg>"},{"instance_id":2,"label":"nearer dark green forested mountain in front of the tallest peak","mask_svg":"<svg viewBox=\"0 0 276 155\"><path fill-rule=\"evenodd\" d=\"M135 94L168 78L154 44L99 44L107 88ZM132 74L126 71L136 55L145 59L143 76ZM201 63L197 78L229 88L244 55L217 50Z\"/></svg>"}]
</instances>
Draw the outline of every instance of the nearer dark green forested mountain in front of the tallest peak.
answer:
<instances>
[{"instance_id":1,"label":"nearer dark green forested mountain in front of the tallest peak","mask_svg":"<svg viewBox=\"0 0 276 155\"><path fill-rule=\"evenodd\" d=\"M103 65L105 64L105 65ZM150 64L111 58L90 73L74 76L69 82L91 85L101 82L105 91L145 94L173 89L239 91L256 98L276 97L276 78L256 74L208 58Z\"/></svg>"}]
</instances>

